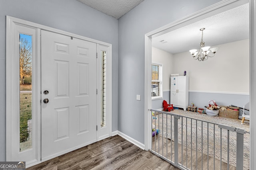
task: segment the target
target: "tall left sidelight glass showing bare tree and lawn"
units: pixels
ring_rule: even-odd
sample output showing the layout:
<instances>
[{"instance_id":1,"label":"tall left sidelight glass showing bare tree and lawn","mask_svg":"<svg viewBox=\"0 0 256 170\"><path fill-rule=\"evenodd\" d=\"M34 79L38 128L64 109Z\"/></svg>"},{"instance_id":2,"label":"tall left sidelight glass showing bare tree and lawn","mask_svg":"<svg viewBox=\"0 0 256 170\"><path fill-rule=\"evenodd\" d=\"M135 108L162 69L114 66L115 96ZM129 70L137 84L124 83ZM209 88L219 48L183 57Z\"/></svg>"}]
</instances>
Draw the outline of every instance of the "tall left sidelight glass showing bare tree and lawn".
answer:
<instances>
[{"instance_id":1,"label":"tall left sidelight glass showing bare tree and lawn","mask_svg":"<svg viewBox=\"0 0 256 170\"><path fill-rule=\"evenodd\" d=\"M32 36L20 34L20 152L32 148Z\"/></svg>"}]
</instances>

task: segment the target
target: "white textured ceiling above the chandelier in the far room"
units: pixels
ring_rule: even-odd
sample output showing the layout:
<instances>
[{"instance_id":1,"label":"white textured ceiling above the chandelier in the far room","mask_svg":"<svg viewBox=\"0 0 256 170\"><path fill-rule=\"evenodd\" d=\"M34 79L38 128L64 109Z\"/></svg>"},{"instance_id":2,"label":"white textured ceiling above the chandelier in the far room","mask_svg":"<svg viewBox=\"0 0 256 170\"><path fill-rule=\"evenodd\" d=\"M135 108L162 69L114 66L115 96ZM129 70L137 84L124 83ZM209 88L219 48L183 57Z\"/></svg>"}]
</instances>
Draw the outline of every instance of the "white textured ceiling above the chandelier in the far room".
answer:
<instances>
[{"instance_id":1,"label":"white textured ceiling above the chandelier in the far room","mask_svg":"<svg viewBox=\"0 0 256 170\"><path fill-rule=\"evenodd\" d=\"M249 4L216 14L152 39L152 46L172 54L199 49L202 32L205 46L249 39ZM167 43L161 43L165 40Z\"/></svg>"}]
</instances>

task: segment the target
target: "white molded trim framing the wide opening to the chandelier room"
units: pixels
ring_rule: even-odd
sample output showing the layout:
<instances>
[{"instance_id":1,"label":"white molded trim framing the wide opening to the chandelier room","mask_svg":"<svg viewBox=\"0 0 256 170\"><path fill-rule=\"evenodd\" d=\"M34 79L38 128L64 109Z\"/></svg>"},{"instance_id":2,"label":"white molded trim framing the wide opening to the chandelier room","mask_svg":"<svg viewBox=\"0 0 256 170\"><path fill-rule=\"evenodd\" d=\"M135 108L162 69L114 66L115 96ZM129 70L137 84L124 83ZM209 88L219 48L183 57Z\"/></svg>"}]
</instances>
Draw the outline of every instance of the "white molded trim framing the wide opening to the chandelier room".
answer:
<instances>
[{"instance_id":1,"label":"white molded trim framing the wide opening to the chandelier room","mask_svg":"<svg viewBox=\"0 0 256 170\"><path fill-rule=\"evenodd\" d=\"M226 11L228 9L234 8L236 6L240 6L242 4L246 4L248 3L248 0L222 0L216 4L213 4L212 6L209 6L207 8L204 8L198 12L195 12L194 14L191 14L189 16L186 16L180 20L174 21L172 23L169 23L163 27L160 27L158 29L155 29L149 33L145 34L145 80L144 80L144 88L145 88L145 104L144 104L144 117L145 117L145 131L144 131L144 141L145 141L145 150L150 150L151 149L151 139L152 139L152 135L151 135L151 113L150 113L150 109L152 109L152 104L151 104L151 63L152 63L152 38L157 37L159 35L162 35L164 33L170 32L172 30L178 29L180 27L184 27L185 25L189 25L191 23L194 23L196 21L202 20L204 18L208 18L209 16L218 14L220 12ZM254 5L254 6L253 6ZM253 6L254 8L251 8L251 10L255 10L255 2L254 1L250 1L250 6ZM250 13L250 18L252 18L252 14L254 13ZM255 20L255 18L254 18ZM250 24L254 25L255 27L255 23L252 23L253 20L250 20ZM253 33L253 29L250 28L250 33L252 35ZM254 34L255 36L255 34ZM250 51L252 51L252 49L255 49L253 47L252 44L250 44ZM252 54L252 53L251 53ZM252 56L250 56L250 58L252 58ZM251 65L252 66L252 65ZM254 65L255 66L255 65ZM252 72L252 67L250 68L250 72ZM251 76L252 79L252 76ZM252 82L250 82L250 87L252 88ZM250 89L250 94L251 96L252 94L252 89ZM252 100L252 97L250 97L250 100ZM250 103L252 103L252 101L250 101ZM254 106L256 107L256 106ZM250 108L251 109L251 108ZM250 124L250 126L252 127L253 125ZM256 127L255 127L256 128ZM251 135L252 136L252 135ZM252 143L252 138L250 143ZM252 152L250 152L250 156L251 156ZM252 158L252 157L251 157ZM250 159L252 160L252 159ZM253 169L253 168L252 168Z\"/></svg>"}]
</instances>

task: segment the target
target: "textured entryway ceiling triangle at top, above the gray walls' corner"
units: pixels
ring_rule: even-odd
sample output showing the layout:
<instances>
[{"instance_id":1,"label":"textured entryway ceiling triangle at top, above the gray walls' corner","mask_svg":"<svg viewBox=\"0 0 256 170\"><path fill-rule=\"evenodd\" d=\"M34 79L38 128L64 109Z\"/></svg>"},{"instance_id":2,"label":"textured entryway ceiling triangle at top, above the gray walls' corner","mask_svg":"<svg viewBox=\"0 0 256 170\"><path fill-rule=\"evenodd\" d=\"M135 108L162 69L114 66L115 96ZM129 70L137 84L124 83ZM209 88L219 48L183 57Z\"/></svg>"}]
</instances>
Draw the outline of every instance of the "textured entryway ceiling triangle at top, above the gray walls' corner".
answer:
<instances>
[{"instance_id":1,"label":"textured entryway ceiling triangle at top, above the gray walls' corner","mask_svg":"<svg viewBox=\"0 0 256 170\"><path fill-rule=\"evenodd\" d=\"M116 19L132 10L144 0L78 0Z\"/></svg>"}]
</instances>

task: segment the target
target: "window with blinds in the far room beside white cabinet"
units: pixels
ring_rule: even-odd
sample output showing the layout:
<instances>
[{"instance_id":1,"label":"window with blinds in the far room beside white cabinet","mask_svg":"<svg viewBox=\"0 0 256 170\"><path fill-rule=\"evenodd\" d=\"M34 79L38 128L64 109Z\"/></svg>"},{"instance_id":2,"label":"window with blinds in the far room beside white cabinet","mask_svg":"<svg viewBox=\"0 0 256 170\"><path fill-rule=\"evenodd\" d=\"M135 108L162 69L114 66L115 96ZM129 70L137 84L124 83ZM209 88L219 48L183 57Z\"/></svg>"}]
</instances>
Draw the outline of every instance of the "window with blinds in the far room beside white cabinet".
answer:
<instances>
[{"instance_id":1,"label":"window with blinds in the far room beside white cabinet","mask_svg":"<svg viewBox=\"0 0 256 170\"><path fill-rule=\"evenodd\" d=\"M162 98L162 65L152 63L152 82L151 96L152 99Z\"/></svg>"}]
</instances>

